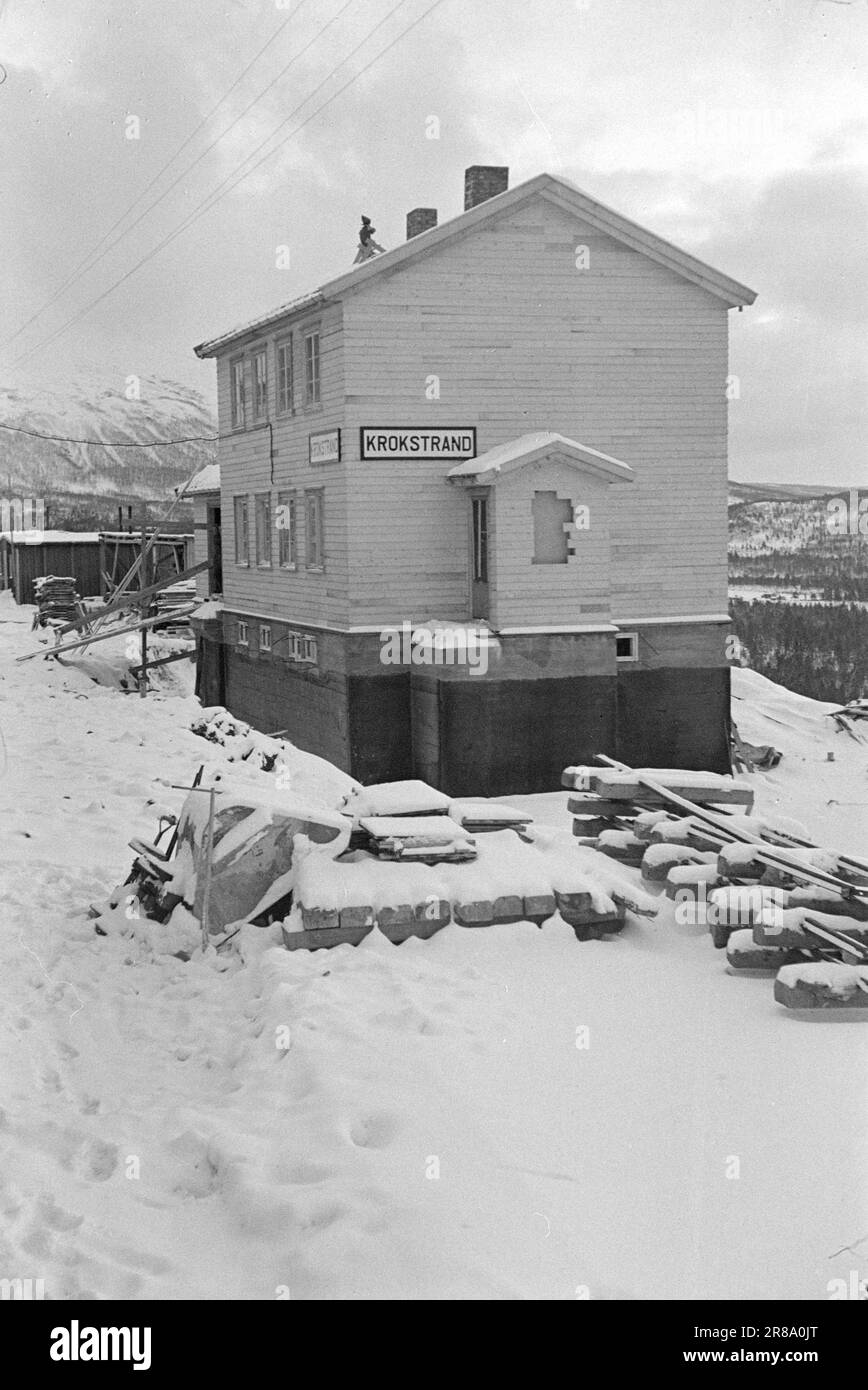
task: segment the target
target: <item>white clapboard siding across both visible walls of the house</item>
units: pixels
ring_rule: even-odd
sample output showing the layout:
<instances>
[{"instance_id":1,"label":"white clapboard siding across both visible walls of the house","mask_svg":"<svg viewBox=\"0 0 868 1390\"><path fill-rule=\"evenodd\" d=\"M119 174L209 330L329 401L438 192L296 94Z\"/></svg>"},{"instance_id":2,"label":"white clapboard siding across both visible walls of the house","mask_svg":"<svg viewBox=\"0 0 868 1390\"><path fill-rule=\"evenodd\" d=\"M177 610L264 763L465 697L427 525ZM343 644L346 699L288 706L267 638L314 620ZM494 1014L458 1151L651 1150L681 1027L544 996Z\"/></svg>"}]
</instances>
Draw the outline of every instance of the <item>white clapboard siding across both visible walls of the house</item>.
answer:
<instances>
[{"instance_id":1,"label":"white clapboard siding across both visible walls of the house","mask_svg":"<svg viewBox=\"0 0 868 1390\"><path fill-rule=\"evenodd\" d=\"M576 264L587 247L588 265ZM581 253L580 253L581 256ZM296 398L303 332L320 324L321 406L275 410L274 343L292 331ZM492 616L502 626L664 619L726 609L728 310L711 293L547 202L506 213L342 303L270 325L268 431L231 434L230 363L218 359L224 591L230 609L309 624L466 619L469 499L440 460L359 457L363 425L474 425L479 452L551 430L630 464L598 489L568 470L576 505L597 498L600 531L579 563L536 574L533 488L501 480ZM245 343L249 359L250 342ZM437 378L438 399L430 399ZM310 432L341 427L344 459L312 467ZM271 478L273 467L273 478ZM566 474L556 471L558 489ZM326 489L326 570L235 564L234 496ZM502 498L498 495L502 491ZM559 491L559 495L561 493ZM498 506L501 516L498 521ZM600 513L602 516L600 517ZM502 532L504 534L504 532ZM522 535L526 541L522 542ZM501 537L502 538L502 537ZM303 549L303 509L299 510Z\"/></svg>"}]
</instances>

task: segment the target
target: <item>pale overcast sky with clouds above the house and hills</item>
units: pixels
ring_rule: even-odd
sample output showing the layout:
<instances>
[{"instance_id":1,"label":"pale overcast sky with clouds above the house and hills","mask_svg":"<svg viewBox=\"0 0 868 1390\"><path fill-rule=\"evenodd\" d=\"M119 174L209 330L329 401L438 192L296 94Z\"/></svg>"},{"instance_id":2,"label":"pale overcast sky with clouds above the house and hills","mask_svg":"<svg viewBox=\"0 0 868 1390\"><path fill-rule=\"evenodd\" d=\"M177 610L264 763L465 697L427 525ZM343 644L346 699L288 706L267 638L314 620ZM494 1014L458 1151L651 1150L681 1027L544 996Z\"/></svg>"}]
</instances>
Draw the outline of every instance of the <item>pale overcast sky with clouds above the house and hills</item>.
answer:
<instances>
[{"instance_id":1,"label":"pale overcast sky with clouds above the house and hills","mask_svg":"<svg viewBox=\"0 0 868 1390\"><path fill-rule=\"evenodd\" d=\"M3 346L0 384L213 398L193 343L346 270L362 211L394 246L409 208L462 210L467 164L508 164L758 291L730 314L733 477L868 485L867 50L868 0L0 0L3 343L178 178Z\"/></svg>"}]
</instances>

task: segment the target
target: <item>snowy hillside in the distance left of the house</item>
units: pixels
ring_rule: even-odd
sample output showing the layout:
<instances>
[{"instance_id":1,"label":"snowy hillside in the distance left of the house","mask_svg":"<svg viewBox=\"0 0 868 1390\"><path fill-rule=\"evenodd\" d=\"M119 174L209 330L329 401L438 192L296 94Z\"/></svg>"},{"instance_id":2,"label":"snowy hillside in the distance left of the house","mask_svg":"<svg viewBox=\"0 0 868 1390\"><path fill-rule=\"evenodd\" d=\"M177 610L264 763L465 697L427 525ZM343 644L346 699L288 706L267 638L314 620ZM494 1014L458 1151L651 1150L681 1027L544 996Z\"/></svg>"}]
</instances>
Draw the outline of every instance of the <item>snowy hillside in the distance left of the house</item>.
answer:
<instances>
[{"instance_id":1,"label":"snowy hillside in the distance left of the house","mask_svg":"<svg viewBox=\"0 0 868 1390\"><path fill-rule=\"evenodd\" d=\"M110 445L36 439L0 428L0 492L8 498L164 498L217 455L216 443L199 439L217 432L204 398L159 377L89 375L53 392L42 386L0 388L0 424ZM195 442L160 449L111 448L156 439Z\"/></svg>"}]
</instances>

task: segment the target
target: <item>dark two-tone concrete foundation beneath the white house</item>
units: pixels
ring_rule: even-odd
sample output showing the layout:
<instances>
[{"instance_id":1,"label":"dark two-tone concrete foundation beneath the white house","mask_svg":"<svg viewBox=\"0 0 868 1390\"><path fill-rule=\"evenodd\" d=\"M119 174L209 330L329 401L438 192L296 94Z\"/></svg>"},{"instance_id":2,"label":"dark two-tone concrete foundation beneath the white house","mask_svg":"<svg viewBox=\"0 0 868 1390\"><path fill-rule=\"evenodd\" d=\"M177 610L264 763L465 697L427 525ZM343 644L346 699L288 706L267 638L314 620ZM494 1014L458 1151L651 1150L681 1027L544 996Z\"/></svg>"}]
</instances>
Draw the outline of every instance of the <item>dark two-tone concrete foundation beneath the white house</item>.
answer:
<instances>
[{"instance_id":1,"label":"dark two-tone concrete foundation beneath the white house","mask_svg":"<svg viewBox=\"0 0 868 1390\"><path fill-rule=\"evenodd\" d=\"M563 767L598 752L634 767L730 770L728 666L616 664L600 638L561 646L547 664L534 637L474 676L383 666L376 641L341 634L323 634L320 664L299 666L239 651L225 632L221 642L199 631L202 702L285 731L362 783L420 777L453 796L555 791Z\"/></svg>"}]
</instances>

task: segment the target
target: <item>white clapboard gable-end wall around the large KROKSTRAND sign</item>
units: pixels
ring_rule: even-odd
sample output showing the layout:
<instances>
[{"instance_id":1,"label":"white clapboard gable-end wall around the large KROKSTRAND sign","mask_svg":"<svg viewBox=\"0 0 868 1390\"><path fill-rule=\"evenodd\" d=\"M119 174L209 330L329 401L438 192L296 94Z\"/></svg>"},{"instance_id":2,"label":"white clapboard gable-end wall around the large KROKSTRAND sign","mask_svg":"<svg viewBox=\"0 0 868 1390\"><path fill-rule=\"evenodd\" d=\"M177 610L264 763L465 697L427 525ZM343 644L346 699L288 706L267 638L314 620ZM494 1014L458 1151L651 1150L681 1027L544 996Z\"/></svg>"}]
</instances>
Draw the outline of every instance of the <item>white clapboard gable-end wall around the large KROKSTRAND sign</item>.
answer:
<instances>
[{"instance_id":1,"label":"white clapboard gable-end wall around the large KROKSTRAND sign","mask_svg":"<svg viewBox=\"0 0 868 1390\"><path fill-rule=\"evenodd\" d=\"M725 610L728 321L712 295L540 200L369 279L344 303L344 343L349 449L374 424L474 424L480 452L531 430L579 439L636 471L609 491L612 613ZM413 616L460 605L467 537L445 471L353 470L373 560L353 566L355 621L394 619L398 596ZM574 621L594 592L579 587ZM562 603L530 606L569 620Z\"/></svg>"}]
</instances>

